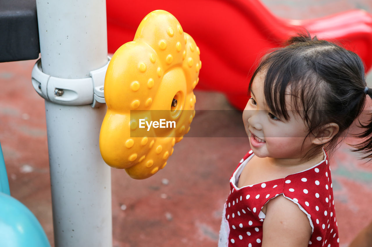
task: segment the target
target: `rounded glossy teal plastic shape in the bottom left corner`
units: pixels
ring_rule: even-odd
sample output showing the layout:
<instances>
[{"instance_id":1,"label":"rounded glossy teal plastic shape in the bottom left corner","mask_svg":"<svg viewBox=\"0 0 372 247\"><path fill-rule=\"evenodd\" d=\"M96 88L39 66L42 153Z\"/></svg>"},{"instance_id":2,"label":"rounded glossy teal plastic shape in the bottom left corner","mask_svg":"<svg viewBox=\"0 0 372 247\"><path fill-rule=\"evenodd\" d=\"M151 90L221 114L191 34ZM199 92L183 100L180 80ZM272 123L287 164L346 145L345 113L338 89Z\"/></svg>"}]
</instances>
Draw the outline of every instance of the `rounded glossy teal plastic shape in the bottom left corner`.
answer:
<instances>
[{"instance_id":1,"label":"rounded glossy teal plastic shape in the bottom left corner","mask_svg":"<svg viewBox=\"0 0 372 247\"><path fill-rule=\"evenodd\" d=\"M0 192L0 246L50 247L39 221L25 205Z\"/></svg>"}]
</instances>

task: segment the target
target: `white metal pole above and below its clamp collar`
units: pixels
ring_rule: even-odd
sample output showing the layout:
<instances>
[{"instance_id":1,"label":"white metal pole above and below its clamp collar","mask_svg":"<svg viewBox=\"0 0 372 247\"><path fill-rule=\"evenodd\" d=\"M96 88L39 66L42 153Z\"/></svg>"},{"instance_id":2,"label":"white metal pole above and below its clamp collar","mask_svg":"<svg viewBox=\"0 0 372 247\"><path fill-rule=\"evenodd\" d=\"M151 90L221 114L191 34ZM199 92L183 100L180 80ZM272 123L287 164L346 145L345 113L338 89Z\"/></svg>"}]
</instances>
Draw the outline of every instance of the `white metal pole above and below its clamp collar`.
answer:
<instances>
[{"instance_id":1,"label":"white metal pole above and below its clamp collar","mask_svg":"<svg viewBox=\"0 0 372 247\"><path fill-rule=\"evenodd\" d=\"M44 73L87 78L107 63L104 0L37 0L36 6ZM112 246L111 175L99 152L105 110L45 101L57 247Z\"/></svg>"}]
</instances>

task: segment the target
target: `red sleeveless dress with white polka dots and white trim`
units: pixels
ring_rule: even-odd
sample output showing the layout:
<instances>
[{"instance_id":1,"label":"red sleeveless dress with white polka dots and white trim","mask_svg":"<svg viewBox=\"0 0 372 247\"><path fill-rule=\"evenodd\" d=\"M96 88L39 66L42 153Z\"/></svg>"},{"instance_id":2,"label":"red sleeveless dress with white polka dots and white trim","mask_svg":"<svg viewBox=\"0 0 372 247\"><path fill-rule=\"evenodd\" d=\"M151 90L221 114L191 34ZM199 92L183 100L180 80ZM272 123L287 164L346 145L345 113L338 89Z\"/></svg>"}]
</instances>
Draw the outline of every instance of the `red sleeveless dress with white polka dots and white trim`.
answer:
<instances>
[{"instance_id":1,"label":"red sleeveless dress with white polka dots and white trim","mask_svg":"<svg viewBox=\"0 0 372 247\"><path fill-rule=\"evenodd\" d=\"M309 247L338 247L330 165L325 152L323 161L305 171L238 188L238 178L253 155L249 151L230 178L218 246L261 246L265 220L261 209L267 201L283 194L307 214L312 227Z\"/></svg>"}]
</instances>

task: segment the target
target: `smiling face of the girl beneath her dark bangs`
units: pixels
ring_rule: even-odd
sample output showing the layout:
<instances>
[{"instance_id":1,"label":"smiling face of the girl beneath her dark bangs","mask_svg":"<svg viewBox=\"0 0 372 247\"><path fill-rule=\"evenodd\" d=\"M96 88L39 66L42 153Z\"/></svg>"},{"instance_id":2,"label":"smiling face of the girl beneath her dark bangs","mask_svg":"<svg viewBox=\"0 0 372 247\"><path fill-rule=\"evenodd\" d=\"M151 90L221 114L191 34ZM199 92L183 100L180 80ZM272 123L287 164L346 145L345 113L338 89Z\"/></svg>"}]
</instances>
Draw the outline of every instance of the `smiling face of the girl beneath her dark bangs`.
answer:
<instances>
[{"instance_id":1,"label":"smiling face of the girl beneath her dark bangs","mask_svg":"<svg viewBox=\"0 0 372 247\"><path fill-rule=\"evenodd\" d=\"M243 112L243 122L251 149L260 158L303 158L313 144L304 120L296 112L288 95L290 119L278 119L270 112L264 99L264 72L256 75L251 86L251 99ZM289 92L288 92L289 93Z\"/></svg>"}]
</instances>

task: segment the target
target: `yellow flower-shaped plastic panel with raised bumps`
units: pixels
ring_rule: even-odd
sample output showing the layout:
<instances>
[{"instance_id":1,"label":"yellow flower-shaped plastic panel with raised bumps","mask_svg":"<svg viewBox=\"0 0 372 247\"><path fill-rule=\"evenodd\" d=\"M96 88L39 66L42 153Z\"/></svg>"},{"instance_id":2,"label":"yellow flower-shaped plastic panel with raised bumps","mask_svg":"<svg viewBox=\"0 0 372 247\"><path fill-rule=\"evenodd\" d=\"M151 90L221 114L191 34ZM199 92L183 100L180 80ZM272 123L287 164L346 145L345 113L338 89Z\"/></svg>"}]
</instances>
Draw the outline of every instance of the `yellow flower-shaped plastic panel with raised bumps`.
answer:
<instances>
[{"instance_id":1,"label":"yellow flower-shaped plastic panel with raised bumps","mask_svg":"<svg viewBox=\"0 0 372 247\"><path fill-rule=\"evenodd\" d=\"M189 131L195 116L193 89L202 65L199 55L192 37L164 10L148 14L134 40L115 52L106 72L108 110L99 140L108 165L124 168L136 179L148 178L165 167L174 144ZM171 106L173 99L177 99L175 107ZM176 121L176 128L141 129L135 135L139 131L135 113L149 120Z\"/></svg>"}]
</instances>

